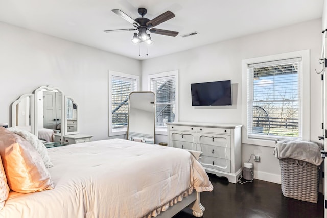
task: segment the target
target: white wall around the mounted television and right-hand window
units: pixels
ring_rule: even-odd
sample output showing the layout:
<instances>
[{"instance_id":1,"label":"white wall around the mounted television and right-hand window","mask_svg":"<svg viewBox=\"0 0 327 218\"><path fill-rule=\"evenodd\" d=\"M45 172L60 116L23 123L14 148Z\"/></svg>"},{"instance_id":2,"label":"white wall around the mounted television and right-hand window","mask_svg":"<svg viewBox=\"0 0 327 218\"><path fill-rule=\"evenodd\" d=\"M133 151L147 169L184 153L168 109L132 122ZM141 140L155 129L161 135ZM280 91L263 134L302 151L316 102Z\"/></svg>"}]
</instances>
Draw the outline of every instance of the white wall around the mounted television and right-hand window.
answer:
<instances>
[{"instance_id":1,"label":"white wall around the mounted television and right-hand window","mask_svg":"<svg viewBox=\"0 0 327 218\"><path fill-rule=\"evenodd\" d=\"M196 36L193 36L196 37ZM192 40L192 37L185 38ZM167 45L169 46L169 45ZM321 134L321 81L315 69L321 69L321 20L279 28L219 43L201 46L184 52L142 61L142 90L147 90L147 76L158 72L179 70L179 120L214 123L242 123L242 59L310 49L310 137L317 141ZM233 106L192 107L190 83L231 80ZM166 141L167 136L156 135L156 141ZM243 144L242 161L250 154L261 156L254 163L255 178L280 182L280 169L274 158L273 147Z\"/></svg>"}]
</instances>

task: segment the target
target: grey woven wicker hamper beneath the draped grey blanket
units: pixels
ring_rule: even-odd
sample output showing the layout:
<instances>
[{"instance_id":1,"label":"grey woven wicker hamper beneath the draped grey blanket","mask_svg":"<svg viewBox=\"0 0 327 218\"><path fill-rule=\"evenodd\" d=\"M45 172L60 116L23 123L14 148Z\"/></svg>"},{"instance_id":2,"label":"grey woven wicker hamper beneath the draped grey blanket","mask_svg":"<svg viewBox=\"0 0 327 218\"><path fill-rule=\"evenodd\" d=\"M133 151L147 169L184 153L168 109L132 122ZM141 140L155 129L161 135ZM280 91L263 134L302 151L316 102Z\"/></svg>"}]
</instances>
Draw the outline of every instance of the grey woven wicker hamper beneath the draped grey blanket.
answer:
<instances>
[{"instance_id":1,"label":"grey woven wicker hamper beneath the draped grey blanket","mask_svg":"<svg viewBox=\"0 0 327 218\"><path fill-rule=\"evenodd\" d=\"M279 159L285 197L317 203L319 167L306 161Z\"/></svg>"}]
</instances>

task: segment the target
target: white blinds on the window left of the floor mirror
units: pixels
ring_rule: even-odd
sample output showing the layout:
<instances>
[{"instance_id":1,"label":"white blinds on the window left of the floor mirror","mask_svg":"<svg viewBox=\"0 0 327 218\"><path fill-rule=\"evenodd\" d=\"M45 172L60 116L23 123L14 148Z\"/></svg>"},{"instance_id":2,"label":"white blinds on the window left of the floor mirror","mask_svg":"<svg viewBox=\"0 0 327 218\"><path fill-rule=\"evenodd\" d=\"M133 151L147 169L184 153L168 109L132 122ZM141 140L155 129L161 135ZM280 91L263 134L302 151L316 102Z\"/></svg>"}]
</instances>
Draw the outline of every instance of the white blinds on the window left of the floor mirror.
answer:
<instances>
[{"instance_id":1,"label":"white blinds on the window left of the floor mirror","mask_svg":"<svg viewBox=\"0 0 327 218\"><path fill-rule=\"evenodd\" d=\"M112 129L127 127L128 97L136 91L136 79L112 76L111 80L111 113Z\"/></svg>"}]
</instances>

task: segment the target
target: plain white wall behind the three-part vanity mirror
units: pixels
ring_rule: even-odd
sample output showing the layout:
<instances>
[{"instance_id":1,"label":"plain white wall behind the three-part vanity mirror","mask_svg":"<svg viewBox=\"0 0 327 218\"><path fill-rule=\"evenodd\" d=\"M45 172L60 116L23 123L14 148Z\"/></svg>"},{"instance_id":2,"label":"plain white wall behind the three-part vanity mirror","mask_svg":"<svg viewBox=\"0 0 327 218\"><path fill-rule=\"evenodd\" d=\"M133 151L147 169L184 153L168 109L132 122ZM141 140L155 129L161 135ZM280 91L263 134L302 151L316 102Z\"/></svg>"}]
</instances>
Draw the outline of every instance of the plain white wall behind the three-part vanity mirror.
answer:
<instances>
[{"instance_id":1,"label":"plain white wall behind the three-part vanity mirror","mask_svg":"<svg viewBox=\"0 0 327 218\"><path fill-rule=\"evenodd\" d=\"M108 70L140 75L141 63L0 22L0 123L21 94L51 84L78 103L80 133L107 139Z\"/></svg>"}]
</instances>

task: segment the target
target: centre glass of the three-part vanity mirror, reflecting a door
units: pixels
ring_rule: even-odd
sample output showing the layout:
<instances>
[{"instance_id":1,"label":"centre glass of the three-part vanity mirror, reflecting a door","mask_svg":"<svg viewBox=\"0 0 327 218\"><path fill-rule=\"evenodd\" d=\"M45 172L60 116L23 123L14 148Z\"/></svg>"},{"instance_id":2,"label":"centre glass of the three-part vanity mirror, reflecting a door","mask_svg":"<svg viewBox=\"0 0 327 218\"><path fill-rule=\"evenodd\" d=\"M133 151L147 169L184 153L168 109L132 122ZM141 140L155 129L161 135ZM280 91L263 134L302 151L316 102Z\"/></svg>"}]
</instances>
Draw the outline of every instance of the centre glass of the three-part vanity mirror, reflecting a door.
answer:
<instances>
[{"instance_id":1,"label":"centre glass of the three-part vanity mirror, reflecting a door","mask_svg":"<svg viewBox=\"0 0 327 218\"><path fill-rule=\"evenodd\" d=\"M43 91L43 127L61 129L61 93Z\"/></svg>"}]
</instances>

